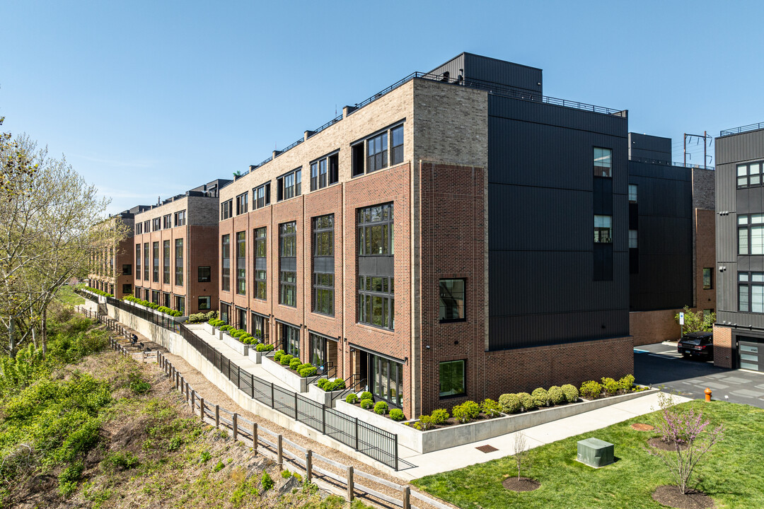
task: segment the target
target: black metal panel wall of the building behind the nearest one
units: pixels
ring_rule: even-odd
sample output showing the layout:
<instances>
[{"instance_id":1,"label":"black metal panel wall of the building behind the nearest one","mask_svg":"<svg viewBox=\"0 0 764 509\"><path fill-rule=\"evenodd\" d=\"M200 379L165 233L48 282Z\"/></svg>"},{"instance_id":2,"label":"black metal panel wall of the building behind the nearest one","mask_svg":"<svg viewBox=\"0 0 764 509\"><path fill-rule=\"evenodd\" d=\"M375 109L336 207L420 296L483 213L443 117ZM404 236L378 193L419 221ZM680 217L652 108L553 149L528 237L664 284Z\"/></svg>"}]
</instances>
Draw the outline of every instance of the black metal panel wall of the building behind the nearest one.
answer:
<instances>
[{"instance_id":1,"label":"black metal panel wall of the building behind the nearest one","mask_svg":"<svg viewBox=\"0 0 764 509\"><path fill-rule=\"evenodd\" d=\"M631 311L694 304L691 177L688 168L629 161L639 250L630 276Z\"/></svg>"}]
</instances>

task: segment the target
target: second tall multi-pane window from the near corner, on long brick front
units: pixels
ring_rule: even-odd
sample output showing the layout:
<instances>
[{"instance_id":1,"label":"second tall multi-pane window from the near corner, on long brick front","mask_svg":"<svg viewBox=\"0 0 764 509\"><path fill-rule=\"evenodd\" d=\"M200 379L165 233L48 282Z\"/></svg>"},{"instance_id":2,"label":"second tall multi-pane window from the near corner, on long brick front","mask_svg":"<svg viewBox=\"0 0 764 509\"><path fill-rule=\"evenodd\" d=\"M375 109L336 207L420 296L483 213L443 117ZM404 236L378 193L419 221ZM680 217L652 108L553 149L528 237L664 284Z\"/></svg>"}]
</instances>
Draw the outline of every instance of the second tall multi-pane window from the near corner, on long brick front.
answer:
<instances>
[{"instance_id":1,"label":"second tall multi-pane window from the near corner, on long brick front","mask_svg":"<svg viewBox=\"0 0 764 509\"><path fill-rule=\"evenodd\" d=\"M313 295L316 313L334 316L334 214L313 218Z\"/></svg>"}]
</instances>

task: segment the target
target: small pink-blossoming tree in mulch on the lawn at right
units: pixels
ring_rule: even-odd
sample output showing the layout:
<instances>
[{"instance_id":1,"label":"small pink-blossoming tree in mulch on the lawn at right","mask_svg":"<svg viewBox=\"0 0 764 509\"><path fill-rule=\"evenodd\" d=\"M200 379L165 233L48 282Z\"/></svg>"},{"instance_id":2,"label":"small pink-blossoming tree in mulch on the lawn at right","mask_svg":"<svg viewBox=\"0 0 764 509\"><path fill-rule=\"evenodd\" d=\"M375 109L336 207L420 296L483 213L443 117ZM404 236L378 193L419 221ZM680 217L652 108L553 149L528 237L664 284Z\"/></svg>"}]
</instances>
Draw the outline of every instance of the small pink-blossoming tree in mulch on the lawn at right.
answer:
<instances>
[{"instance_id":1,"label":"small pink-blossoming tree in mulch on the lawn at right","mask_svg":"<svg viewBox=\"0 0 764 509\"><path fill-rule=\"evenodd\" d=\"M715 443L724 440L724 426L707 430L710 420L703 419L703 411L678 411L670 395L659 399L661 419L656 428L661 440L672 444L669 450L651 447L647 452L659 457L674 478L681 492L687 493L692 473L703 456Z\"/></svg>"}]
</instances>

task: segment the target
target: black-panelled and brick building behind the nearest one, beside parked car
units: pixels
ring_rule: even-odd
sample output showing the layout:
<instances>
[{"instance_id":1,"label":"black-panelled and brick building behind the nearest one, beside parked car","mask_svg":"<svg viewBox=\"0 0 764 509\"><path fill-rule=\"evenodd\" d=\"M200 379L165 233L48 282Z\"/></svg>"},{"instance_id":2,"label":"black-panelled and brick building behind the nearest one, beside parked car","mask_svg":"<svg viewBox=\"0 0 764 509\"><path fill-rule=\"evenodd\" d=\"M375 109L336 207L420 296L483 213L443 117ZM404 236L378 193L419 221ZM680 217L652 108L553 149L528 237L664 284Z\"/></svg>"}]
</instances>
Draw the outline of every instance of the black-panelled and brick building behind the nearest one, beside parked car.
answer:
<instances>
[{"instance_id":1,"label":"black-panelled and brick building behind the nearest one, beside parked car","mask_svg":"<svg viewBox=\"0 0 764 509\"><path fill-rule=\"evenodd\" d=\"M672 163L671 138L629 133L630 333L634 345L677 340L685 306L710 313L713 168Z\"/></svg>"}]
</instances>

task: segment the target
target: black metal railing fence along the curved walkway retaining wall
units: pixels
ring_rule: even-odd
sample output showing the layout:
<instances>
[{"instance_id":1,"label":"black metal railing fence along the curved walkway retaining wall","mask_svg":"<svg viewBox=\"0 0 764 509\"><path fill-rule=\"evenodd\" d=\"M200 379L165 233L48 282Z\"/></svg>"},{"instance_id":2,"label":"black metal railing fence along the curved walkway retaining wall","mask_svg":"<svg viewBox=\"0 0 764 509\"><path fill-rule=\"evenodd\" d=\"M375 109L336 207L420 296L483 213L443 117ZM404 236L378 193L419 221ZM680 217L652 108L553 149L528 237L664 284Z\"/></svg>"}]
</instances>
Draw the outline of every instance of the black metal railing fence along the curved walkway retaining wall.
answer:
<instances>
[{"instance_id":1,"label":"black metal railing fence along the curved walkway retaining wall","mask_svg":"<svg viewBox=\"0 0 764 509\"><path fill-rule=\"evenodd\" d=\"M358 420L358 417L343 414L341 411L305 398L294 391L257 378L250 372L241 369L235 362L231 362L231 359L215 350L214 347L209 346L206 341L196 336L188 327L178 324L171 318L161 317L115 298L107 297L106 302L115 308L151 321L152 324L180 333L184 340L201 353L205 359L212 362L212 365L219 369L225 378L233 382L240 391L243 391L250 398L260 401L262 404L306 424L384 465L398 469L397 434L367 424L363 420Z\"/></svg>"}]
</instances>

